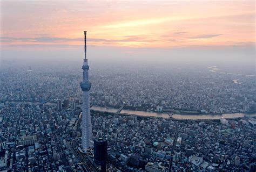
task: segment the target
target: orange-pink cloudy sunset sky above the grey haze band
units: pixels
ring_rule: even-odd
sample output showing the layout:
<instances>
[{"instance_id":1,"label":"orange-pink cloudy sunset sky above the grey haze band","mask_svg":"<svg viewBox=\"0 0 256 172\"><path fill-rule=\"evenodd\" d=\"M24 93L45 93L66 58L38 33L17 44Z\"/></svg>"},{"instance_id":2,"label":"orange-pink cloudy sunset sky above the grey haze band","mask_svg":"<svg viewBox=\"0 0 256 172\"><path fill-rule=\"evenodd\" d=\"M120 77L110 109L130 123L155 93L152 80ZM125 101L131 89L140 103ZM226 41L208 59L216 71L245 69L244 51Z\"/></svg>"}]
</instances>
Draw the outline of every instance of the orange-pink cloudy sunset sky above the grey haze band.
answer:
<instances>
[{"instance_id":1,"label":"orange-pink cloudy sunset sky above the grey haze band","mask_svg":"<svg viewBox=\"0 0 256 172\"><path fill-rule=\"evenodd\" d=\"M254 1L1 1L1 45L255 43Z\"/></svg>"}]
</instances>

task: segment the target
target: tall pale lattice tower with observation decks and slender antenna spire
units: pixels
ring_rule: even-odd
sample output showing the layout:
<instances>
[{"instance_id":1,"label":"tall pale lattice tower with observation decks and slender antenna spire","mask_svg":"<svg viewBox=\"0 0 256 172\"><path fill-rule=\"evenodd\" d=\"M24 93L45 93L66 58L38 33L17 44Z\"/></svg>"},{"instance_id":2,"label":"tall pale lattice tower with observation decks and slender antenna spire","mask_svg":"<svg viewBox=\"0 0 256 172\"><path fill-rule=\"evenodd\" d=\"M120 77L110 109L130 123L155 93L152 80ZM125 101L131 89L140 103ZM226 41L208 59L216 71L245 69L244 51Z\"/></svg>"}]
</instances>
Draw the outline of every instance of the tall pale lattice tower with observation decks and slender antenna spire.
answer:
<instances>
[{"instance_id":1,"label":"tall pale lattice tower with observation decks and slender antenna spire","mask_svg":"<svg viewBox=\"0 0 256 172\"><path fill-rule=\"evenodd\" d=\"M83 82L80 86L83 91L83 122L82 122L82 146L87 150L92 147L92 126L91 126L91 113L90 113L90 97L89 91L91 89L91 83L88 77L88 62L86 59L86 31L84 31L84 65L83 69Z\"/></svg>"}]
</instances>

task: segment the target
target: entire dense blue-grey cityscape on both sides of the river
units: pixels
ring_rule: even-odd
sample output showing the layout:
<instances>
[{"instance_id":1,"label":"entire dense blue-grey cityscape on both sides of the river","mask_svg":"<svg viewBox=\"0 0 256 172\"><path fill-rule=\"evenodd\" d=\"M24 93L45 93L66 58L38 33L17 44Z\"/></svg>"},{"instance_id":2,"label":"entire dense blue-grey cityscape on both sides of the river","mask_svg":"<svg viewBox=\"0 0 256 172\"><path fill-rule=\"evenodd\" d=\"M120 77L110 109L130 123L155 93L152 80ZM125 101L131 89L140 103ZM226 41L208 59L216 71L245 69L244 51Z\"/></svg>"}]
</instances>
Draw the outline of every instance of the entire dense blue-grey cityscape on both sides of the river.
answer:
<instances>
[{"instance_id":1,"label":"entire dense blue-grey cityscape on both sides of the river","mask_svg":"<svg viewBox=\"0 0 256 172\"><path fill-rule=\"evenodd\" d=\"M5 63L0 74L1 169L97 171L92 150L84 155L81 149L79 68L67 66L65 73L61 68L35 70L17 64L14 70ZM215 73L207 66L200 72L192 72L193 68L187 73L159 70L156 76L145 68L138 69L137 75L130 70L128 75L127 70L105 73L92 69L91 105L124 105L142 111L157 111L162 106L162 111L191 113L255 108L252 76ZM233 82L235 78L242 87ZM91 111L91 121L93 138L107 141L106 171L255 170L256 120L250 113L239 119L193 121Z\"/></svg>"}]
</instances>

